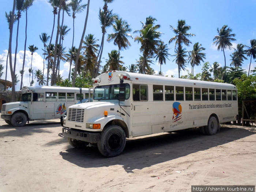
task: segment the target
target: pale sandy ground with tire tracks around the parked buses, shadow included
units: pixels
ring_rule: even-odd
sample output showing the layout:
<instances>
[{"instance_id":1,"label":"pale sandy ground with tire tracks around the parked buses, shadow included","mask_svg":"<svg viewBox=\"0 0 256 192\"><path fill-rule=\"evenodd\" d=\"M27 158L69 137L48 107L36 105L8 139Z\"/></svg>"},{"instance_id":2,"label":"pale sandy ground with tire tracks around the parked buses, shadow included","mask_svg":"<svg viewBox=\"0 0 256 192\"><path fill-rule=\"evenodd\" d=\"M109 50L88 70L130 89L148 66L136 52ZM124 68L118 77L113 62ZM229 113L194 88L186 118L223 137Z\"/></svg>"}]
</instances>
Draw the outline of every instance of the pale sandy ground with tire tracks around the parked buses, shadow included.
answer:
<instances>
[{"instance_id":1,"label":"pale sandy ground with tire tracks around the parked buses, shadow included","mask_svg":"<svg viewBox=\"0 0 256 192\"><path fill-rule=\"evenodd\" d=\"M132 138L118 157L72 148L59 120L14 128L0 118L0 191L191 191L191 185L255 185L256 129L222 125Z\"/></svg>"}]
</instances>

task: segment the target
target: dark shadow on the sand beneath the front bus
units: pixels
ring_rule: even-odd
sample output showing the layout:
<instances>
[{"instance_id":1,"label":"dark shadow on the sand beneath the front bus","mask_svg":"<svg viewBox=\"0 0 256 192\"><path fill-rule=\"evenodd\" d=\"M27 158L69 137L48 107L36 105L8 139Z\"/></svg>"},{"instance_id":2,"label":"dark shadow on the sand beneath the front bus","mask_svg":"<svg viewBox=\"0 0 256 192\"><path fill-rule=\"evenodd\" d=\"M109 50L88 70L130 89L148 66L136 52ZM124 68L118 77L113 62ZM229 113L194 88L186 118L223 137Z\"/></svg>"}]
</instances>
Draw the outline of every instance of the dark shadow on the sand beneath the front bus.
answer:
<instances>
[{"instance_id":1,"label":"dark shadow on the sand beneath the front bus","mask_svg":"<svg viewBox=\"0 0 256 192\"><path fill-rule=\"evenodd\" d=\"M84 168L123 165L127 172L132 172L134 169L150 167L254 134L256 132L244 128L227 127L222 127L220 132L212 136L202 135L198 129L183 130L128 139L123 153L117 157L103 157L97 146L69 148L60 152L60 155L64 160Z\"/></svg>"}]
</instances>

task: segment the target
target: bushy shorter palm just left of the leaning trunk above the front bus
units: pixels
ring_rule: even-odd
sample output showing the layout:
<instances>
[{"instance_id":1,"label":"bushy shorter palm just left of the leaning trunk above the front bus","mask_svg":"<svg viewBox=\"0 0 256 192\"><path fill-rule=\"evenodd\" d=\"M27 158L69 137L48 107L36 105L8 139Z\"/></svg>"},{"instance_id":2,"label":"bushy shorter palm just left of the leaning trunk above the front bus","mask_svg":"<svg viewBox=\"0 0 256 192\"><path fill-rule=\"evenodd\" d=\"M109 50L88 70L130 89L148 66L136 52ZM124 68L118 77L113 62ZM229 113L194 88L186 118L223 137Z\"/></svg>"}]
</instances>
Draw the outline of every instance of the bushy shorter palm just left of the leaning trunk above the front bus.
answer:
<instances>
[{"instance_id":1,"label":"bushy shorter palm just left of the leaning trunk above the front bus","mask_svg":"<svg viewBox=\"0 0 256 192\"><path fill-rule=\"evenodd\" d=\"M98 52L98 47L99 45L96 44L97 41L99 41L99 39L95 39L93 34L88 34L85 37L85 40L83 41L83 44L85 46L83 46L82 48L84 49L84 53L86 54L86 68L85 70L89 70L90 73L93 72L94 69L94 63L96 60L96 54Z\"/></svg>"}]
</instances>

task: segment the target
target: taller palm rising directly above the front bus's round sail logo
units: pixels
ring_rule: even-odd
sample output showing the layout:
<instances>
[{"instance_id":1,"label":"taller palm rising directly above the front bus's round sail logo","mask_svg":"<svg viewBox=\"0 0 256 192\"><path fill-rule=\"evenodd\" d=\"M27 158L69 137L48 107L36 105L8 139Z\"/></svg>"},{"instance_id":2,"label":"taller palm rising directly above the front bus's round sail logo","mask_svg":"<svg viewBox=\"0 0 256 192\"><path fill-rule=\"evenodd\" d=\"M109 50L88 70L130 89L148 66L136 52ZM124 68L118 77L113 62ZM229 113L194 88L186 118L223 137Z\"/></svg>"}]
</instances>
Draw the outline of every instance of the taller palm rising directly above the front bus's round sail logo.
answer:
<instances>
[{"instance_id":1,"label":"taller palm rising directly above the front bus's round sail logo","mask_svg":"<svg viewBox=\"0 0 256 192\"><path fill-rule=\"evenodd\" d=\"M189 46L191 41L189 41L188 37L192 37L192 36L195 36L195 35L192 34L192 33L188 33L188 30L191 29L191 26L186 25L185 20L178 20L177 28L175 28L171 25L170 25L170 28L173 30L173 32L176 35L169 40L169 44L171 42L175 41L175 52L176 52L176 54L174 54L174 55L176 55L176 58L177 58L178 55L183 54L183 53L185 54L185 51L184 51L185 49L182 49L182 43L184 43L186 46ZM176 59L176 63L177 63L177 61L178 62L179 61L183 62L183 59L181 59L182 56L180 55L178 57L180 59ZM184 65L184 63L177 63L177 65L178 65L178 74L179 74L179 78L180 78L180 69L183 69L183 67L185 65Z\"/></svg>"}]
</instances>

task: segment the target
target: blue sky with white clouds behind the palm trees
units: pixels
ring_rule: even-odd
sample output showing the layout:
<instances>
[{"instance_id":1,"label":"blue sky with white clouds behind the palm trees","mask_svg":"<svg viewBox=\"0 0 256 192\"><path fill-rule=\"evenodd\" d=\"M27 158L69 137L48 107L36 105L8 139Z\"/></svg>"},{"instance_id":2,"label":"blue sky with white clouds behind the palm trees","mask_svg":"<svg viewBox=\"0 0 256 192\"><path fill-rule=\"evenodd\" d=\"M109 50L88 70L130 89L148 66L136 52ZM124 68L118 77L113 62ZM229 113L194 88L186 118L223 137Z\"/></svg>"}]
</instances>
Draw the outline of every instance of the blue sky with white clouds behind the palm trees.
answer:
<instances>
[{"instance_id":1,"label":"blue sky with white clouds behind the palm trees","mask_svg":"<svg viewBox=\"0 0 256 192\"><path fill-rule=\"evenodd\" d=\"M29 45L35 45L38 50L33 55L33 69L43 69L43 44L39 39L39 35L43 32L52 32L53 25L53 13L52 7L47 2L48 0L35 0L33 6L28 10L28 32L27 32L27 47ZM87 0L83 0L86 4ZM101 26L99 24L98 12L99 8L103 7L102 0L91 0L90 2L90 12L88 18L88 24L86 28L86 34L94 34L96 39L101 39ZM187 50L193 49L193 44L199 42L202 44L206 50L206 59L212 65L215 61L221 66L224 66L223 52L218 51L215 45L212 45L212 39L217 35L217 28L221 28L223 25L228 25L236 34L237 41L233 42L233 46L236 47L237 44L250 45L251 39L256 39L256 1L255 0L115 0L113 3L108 5L109 10L113 10L114 13L118 14L119 17L123 18L130 24L132 29L131 35L133 38L136 34L133 31L141 29L141 21L145 22L146 17L153 16L157 19L155 24L161 25L159 31L163 34L161 35L161 40L169 47L169 53L174 54L174 43L168 44L170 38L175 34L170 29L170 25L176 27L178 19L183 19L186 21L187 25L191 26L189 33L193 33L196 36L191 37L190 40L192 44L187 47ZM6 56L8 50L9 41L9 30L7 20L5 19L5 11L9 12L12 10L11 0L1 0L0 7L0 57L3 57L4 62L2 63L5 67ZM86 11L76 15L75 19L75 43L76 47L79 46L80 38L83 31L83 25L85 20ZM71 48L72 45L72 17L65 14L64 25L71 28L68 35L64 37L64 46L66 50ZM56 28L56 27L55 27ZM12 53L15 53L16 46L16 29L17 22L14 25L13 33L13 44ZM112 33L112 27L107 29L107 34ZM54 30L56 34L56 29ZM53 36L53 39L55 37ZM54 39L55 41L55 39ZM124 66L128 67L131 64L135 64L136 60L139 59L141 54L139 51L140 44L134 42L134 39L129 39L131 47L127 50L121 51L121 56L123 56L122 61L124 61ZM23 61L23 50L25 42L25 12L22 12L22 17L20 18L19 27L19 38L18 38L18 60L16 71L18 72L22 68ZM100 40L98 41L100 44ZM104 42L103 58L108 58L108 53L111 50L118 50L117 46L113 45L113 42ZM230 65L230 54L233 52L231 50L225 50L226 63L227 66ZM28 48L26 51L26 64L25 64L25 75L24 75L24 86L29 85L29 72L31 63L31 53ZM165 75L174 75L178 77L178 68L175 63L174 57L169 57L166 64L162 65L162 72ZM154 60L155 61L155 60ZM249 68L249 58L244 61L242 66L243 69L248 71ZM102 65L105 65L105 59L102 59ZM194 74L201 72L203 63L199 67L195 67ZM160 66L157 62L151 67L155 71L160 70ZM253 60L251 69L256 67L256 62ZM10 77L10 67L8 67L8 77L7 80L11 81ZM187 69L191 71L191 66L188 64ZM5 71L5 70L4 70ZM187 74L187 71L181 71L181 75ZM20 74L18 72L20 79ZM68 63L61 63L61 76L63 79L68 78ZM5 72L1 79L5 78ZM36 82L36 80L35 80ZM20 82L19 82L20 83ZM20 87L17 84L17 89Z\"/></svg>"}]
</instances>

